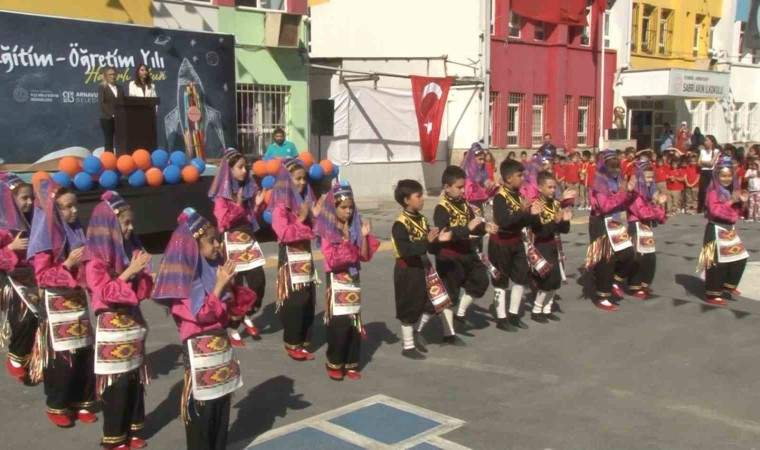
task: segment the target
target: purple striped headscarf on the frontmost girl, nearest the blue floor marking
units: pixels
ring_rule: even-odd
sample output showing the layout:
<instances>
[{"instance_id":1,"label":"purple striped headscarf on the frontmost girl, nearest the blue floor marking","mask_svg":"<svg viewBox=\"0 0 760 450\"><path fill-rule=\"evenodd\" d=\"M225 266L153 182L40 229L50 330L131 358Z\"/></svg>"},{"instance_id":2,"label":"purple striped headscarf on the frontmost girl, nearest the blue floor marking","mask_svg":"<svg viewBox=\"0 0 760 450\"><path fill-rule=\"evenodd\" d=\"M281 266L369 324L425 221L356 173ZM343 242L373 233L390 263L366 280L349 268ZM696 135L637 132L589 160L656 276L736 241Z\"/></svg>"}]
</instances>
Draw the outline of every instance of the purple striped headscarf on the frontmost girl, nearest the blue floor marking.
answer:
<instances>
[{"instance_id":1,"label":"purple striped headscarf on the frontmost girl, nearest the blue floor marking","mask_svg":"<svg viewBox=\"0 0 760 450\"><path fill-rule=\"evenodd\" d=\"M216 268L221 261L207 261L200 255L198 239L211 231L211 223L193 208L185 208L177 219L158 268L153 300L167 307L179 299L190 299L190 312L197 315L206 296L214 292ZM229 294L225 294L226 301Z\"/></svg>"}]
</instances>

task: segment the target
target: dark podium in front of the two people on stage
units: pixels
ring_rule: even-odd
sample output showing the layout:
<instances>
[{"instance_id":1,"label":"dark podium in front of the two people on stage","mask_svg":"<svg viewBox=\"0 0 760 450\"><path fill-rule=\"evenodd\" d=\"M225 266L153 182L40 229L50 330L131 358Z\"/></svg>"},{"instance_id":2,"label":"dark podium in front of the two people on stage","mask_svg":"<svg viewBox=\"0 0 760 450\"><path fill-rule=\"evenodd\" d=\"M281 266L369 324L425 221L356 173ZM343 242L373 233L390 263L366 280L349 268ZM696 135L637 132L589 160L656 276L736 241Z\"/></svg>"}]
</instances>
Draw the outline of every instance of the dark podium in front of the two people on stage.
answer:
<instances>
[{"instance_id":1,"label":"dark podium in front of the two people on stage","mask_svg":"<svg viewBox=\"0 0 760 450\"><path fill-rule=\"evenodd\" d=\"M156 148L158 97L119 97L114 108L114 147L117 155Z\"/></svg>"}]
</instances>

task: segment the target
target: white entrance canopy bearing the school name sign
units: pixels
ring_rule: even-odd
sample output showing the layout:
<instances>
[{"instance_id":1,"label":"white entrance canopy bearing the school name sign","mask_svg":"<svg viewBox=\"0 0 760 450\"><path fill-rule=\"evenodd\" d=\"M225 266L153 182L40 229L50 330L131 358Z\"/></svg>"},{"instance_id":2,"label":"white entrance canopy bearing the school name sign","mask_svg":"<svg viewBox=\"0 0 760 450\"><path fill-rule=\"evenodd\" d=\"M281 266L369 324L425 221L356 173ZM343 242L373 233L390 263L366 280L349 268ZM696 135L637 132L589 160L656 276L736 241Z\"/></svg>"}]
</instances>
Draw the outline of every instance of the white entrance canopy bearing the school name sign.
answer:
<instances>
[{"instance_id":1,"label":"white entrance canopy bearing the school name sign","mask_svg":"<svg viewBox=\"0 0 760 450\"><path fill-rule=\"evenodd\" d=\"M621 74L623 97L721 98L731 85L728 72L689 69L632 70Z\"/></svg>"}]
</instances>

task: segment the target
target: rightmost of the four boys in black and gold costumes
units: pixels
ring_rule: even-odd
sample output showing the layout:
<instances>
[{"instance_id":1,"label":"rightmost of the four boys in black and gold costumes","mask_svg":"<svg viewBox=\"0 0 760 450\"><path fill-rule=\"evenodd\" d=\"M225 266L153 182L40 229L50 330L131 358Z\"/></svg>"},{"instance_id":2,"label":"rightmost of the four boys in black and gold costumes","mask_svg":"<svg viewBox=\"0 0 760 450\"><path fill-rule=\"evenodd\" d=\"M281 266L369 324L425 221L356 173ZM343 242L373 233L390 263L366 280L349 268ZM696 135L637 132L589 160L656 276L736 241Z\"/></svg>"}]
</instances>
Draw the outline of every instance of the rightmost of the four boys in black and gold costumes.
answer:
<instances>
[{"instance_id":1,"label":"rightmost of the four boys in black and gold costumes","mask_svg":"<svg viewBox=\"0 0 760 450\"><path fill-rule=\"evenodd\" d=\"M563 209L557 200L557 179L548 171L538 173L537 185L539 190L538 203L542 206L538 219L531 224L533 246L548 264L548 270L540 276L532 272L536 284L536 300L533 302L531 320L548 323L550 320L559 321L552 312L555 292L562 285L562 253L559 234L570 232L572 209Z\"/></svg>"}]
</instances>

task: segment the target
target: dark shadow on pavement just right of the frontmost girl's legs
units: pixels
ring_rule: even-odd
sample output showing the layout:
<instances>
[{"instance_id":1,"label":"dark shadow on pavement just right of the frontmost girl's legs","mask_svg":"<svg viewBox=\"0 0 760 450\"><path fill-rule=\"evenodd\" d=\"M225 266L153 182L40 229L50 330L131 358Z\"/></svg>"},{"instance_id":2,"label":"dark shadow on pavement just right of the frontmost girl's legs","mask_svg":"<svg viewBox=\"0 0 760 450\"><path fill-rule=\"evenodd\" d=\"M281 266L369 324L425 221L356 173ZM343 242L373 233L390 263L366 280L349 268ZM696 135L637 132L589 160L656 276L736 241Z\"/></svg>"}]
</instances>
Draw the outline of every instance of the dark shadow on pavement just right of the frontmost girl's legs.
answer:
<instances>
[{"instance_id":1,"label":"dark shadow on pavement just right of the frontmost girl's legs","mask_svg":"<svg viewBox=\"0 0 760 450\"><path fill-rule=\"evenodd\" d=\"M272 429L277 417L311 406L302 399L303 394L295 393L294 385L292 378L280 375L251 388L233 406L238 413L230 427L228 448L245 448L255 437Z\"/></svg>"}]
</instances>

